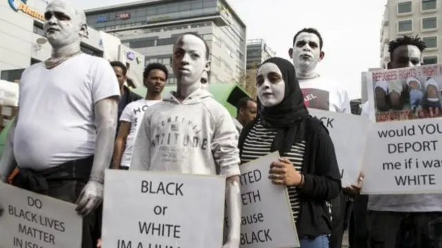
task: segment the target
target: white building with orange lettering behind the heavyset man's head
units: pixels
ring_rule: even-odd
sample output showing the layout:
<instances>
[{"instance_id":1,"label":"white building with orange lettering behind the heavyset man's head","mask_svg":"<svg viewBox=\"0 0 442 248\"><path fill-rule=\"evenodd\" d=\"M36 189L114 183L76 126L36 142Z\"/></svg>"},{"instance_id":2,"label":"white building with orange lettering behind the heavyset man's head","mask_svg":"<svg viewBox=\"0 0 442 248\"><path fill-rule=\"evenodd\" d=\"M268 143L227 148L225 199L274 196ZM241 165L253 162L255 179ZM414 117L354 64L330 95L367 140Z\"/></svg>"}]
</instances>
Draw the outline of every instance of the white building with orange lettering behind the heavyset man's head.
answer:
<instances>
[{"instance_id":1,"label":"white building with orange lettering behind the heavyset man's head","mask_svg":"<svg viewBox=\"0 0 442 248\"><path fill-rule=\"evenodd\" d=\"M43 37L46 1L0 1L0 71L1 79L19 80L23 70L50 57L51 48ZM118 38L89 28L89 37L81 42L84 53L123 61L135 84L142 83L136 72L144 66L144 56L122 46Z\"/></svg>"}]
</instances>

